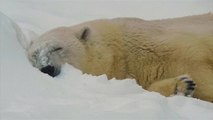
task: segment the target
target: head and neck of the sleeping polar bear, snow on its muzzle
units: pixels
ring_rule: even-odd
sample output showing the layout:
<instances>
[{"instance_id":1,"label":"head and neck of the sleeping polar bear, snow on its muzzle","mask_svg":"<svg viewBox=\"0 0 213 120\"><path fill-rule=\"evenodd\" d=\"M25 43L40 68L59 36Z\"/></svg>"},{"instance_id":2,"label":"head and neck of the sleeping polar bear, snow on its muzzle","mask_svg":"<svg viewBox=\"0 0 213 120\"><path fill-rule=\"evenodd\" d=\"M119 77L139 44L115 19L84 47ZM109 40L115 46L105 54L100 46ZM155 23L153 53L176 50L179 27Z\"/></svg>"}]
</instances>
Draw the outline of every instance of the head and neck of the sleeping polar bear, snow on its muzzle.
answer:
<instances>
[{"instance_id":1,"label":"head and neck of the sleeping polar bear, snow on its muzzle","mask_svg":"<svg viewBox=\"0 0 213 120\"><path fill-rule=\"evenodd\" d=\"M121 43L113 37L115 29L106 27L80 25L51 30L31 43L27 50L28 59L34 67L53 77L60 73L64 63L84 73L111 74L115 69L112 66L117 65L114 54L119 56ZM113 45L115 41L118 45Z\"/></svg>"}]
</instances>

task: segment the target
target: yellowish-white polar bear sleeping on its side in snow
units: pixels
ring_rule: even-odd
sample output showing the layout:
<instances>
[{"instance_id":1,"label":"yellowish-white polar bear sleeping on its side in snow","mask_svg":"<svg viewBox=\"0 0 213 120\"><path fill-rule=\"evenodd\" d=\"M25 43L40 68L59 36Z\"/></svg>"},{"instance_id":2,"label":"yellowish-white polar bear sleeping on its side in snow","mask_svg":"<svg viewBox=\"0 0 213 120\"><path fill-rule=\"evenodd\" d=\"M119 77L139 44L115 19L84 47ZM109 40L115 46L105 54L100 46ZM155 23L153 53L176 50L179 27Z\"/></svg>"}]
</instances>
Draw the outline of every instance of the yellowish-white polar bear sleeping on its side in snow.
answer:
<instances>
[{"instance_id":1,"label":"yellowish-white polar bear sleeping on its side in snow","mask_svg":"<svg viewBox=\"0 0 213 120\"><path fill-rule=\"evenodd\" d=\"M57 76L64 63L149 91L213 101L213 15L146 21L100 19L50 30L27 49L32 65Z\"/></svg>"}]
</instances>

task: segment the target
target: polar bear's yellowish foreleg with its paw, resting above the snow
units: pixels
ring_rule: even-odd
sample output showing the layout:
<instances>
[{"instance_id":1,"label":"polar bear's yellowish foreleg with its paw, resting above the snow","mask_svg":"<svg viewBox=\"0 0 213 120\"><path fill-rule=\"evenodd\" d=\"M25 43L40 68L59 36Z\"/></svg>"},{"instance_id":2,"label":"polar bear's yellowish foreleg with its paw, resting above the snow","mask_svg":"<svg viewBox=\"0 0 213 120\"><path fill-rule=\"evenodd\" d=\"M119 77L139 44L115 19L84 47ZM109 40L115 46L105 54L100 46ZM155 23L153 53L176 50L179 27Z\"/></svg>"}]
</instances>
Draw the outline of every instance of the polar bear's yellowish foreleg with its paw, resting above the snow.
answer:
<instances>
[{"instance_id":1,"label":"polar bear's yellowish foreleg with its paw, resting above the snow","mask_svg":"<svg viewBox=\"0 0 213 120\"><path fill-rule=\"evenodd\" d=\"M154 82L149 86L148 90L159 92L164 96L176 94L193 96L195 87L195 82L188 75L182 75L176 78L169 78Z\"/></svg>"}]
</instances>

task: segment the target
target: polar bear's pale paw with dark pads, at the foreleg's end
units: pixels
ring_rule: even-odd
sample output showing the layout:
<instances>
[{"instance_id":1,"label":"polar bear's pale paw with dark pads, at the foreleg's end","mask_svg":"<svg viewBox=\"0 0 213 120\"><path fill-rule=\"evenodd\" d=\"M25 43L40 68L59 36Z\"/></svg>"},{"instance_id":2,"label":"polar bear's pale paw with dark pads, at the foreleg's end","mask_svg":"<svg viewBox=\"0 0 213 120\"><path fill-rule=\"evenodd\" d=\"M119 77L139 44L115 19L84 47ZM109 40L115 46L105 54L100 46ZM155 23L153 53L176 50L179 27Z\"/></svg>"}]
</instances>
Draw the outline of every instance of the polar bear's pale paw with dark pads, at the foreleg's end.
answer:
<instances>
[{"instance_id":1,"label":"polar bear's pale paw with dark pads, at the foreleg's end","mask_svg":"<svg viewBox=\"0 0 213 120\"><path fill-rule=\"evenodd\" d=\"M176 78L177 84L175 88L175 95L184 95L191 97L194 94L196 84L195 82L188 76L182 75Z\"/></svg>"}]
</instances>

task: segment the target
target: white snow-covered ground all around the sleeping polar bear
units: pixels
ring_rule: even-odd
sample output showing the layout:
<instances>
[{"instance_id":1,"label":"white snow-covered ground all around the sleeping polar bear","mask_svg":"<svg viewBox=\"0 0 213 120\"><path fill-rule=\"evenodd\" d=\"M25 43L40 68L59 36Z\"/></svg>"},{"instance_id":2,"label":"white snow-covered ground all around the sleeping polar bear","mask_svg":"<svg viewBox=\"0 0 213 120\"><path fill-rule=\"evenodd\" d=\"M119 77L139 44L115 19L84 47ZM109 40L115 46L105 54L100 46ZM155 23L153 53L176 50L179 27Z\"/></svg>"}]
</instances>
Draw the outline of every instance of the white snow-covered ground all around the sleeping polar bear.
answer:
<instances>
[{"instance_id":1,"label":"white snow-covered ground all around the sleeping polar bear","mask_svg":"<svg viewBox=\"0 0 213 120\"><path fill-rule=\"evenodd\" d=\"M0 0L0 120L212 120L213 104L147 92L66 64L49 77L28 62L18 39L97 18L168 18L213 11L213 0ZM17 36L18 35L18 36Z\"/></svg>"}]
</instances>

